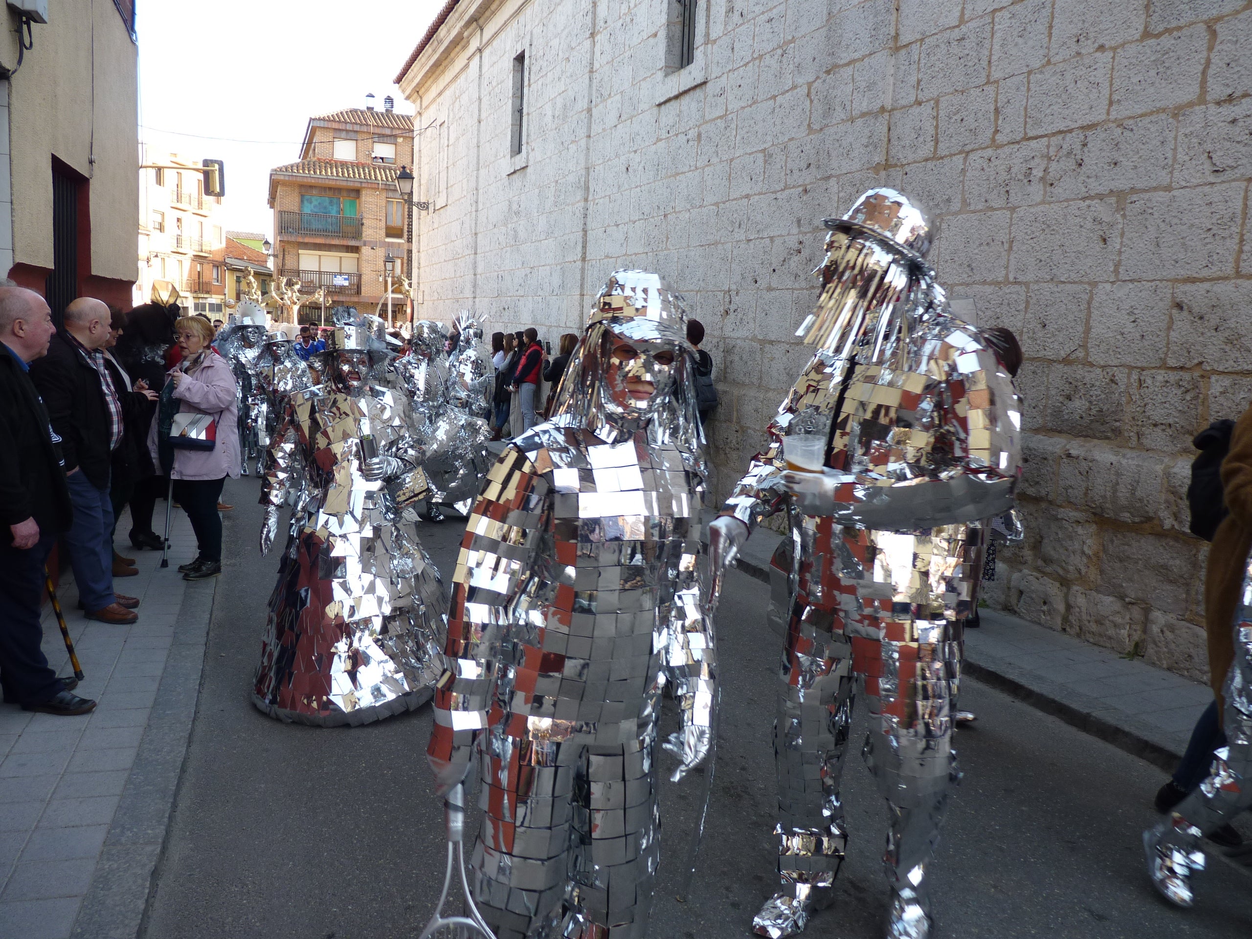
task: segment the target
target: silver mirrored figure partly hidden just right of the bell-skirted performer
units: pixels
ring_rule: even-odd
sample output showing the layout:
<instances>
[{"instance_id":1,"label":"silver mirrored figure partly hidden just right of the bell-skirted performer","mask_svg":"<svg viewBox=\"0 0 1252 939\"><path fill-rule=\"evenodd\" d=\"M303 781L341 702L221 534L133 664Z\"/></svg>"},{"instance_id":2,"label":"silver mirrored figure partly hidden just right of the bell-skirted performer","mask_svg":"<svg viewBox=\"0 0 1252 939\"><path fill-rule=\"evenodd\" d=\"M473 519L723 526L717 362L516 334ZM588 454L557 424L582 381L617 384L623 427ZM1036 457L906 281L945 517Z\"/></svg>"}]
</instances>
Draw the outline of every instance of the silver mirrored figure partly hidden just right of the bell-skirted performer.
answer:
<instances>
[{"instance_id":1,"label":"silver mirrored figure partly hidden just right of the bell-skirted performer","mask_svg":"<svg viewBox=\"0 0 1252 939\"><path fill-rule=\"evenodd\" d=\"M426 452L427 480L431 486L429 501L456 506L466 513L487 468L487 422L471 414L456 401L451 388L461 387L456 373L449 372L444 352L447 337L443 328L432 321L421 319L413 324L409 353L392 362L392 371L408 391L416 417L414 434ZM463 356L462 363L472 362ZM490 363L488 363L490 364Z\"/></svg>"}]
</instances>

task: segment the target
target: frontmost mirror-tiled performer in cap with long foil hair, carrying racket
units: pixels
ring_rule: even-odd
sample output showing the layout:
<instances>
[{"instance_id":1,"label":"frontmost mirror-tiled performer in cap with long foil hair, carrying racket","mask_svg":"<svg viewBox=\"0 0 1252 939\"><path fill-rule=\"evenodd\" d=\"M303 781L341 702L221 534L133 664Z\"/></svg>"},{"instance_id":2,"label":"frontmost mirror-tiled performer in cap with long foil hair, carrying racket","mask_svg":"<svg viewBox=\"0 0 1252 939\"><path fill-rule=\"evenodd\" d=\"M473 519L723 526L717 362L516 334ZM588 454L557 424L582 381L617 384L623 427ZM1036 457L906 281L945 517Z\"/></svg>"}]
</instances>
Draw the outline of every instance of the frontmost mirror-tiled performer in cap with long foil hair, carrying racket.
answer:
<instances>
[{"instance_id":1,"label":"frontmost mirror-tiled performer in cap with long foil hair, carrying racket","mask_svg":"<svg viewBox=\"0 0 1252 939\"><path fill-rule=\"evenodd\" d=\"M613 274L553 418L508 444L466 527L428 757L446 791L477 754L472 889L500 939L641 939L666 681L682 707L665 744L675 779L709 752L716 664L685 337L682 300L657 275Z\"/></svg>"}]
</instances>

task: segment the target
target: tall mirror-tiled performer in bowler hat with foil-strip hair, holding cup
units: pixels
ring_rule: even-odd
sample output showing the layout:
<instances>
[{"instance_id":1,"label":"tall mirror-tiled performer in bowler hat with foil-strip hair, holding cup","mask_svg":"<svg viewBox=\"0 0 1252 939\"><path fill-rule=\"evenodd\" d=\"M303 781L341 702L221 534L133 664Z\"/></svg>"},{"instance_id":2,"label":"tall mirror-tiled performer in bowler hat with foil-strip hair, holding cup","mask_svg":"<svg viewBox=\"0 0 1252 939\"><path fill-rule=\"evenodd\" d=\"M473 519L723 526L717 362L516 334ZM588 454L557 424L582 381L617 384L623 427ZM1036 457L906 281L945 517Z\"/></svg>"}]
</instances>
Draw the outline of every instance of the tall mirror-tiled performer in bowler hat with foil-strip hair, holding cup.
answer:
<instances>
[{"instance_id":1,"label":"tall mirror-tiled performer in bowler hat with foil-strip hair, holding cup","mask_svg":"<svg viewBox=\"0 0 1252 939\"><path fill-rule=\"evenodd\" d=\"M793 935L830 900L860 687L864 757L890 814L888 934L920 939L930 930L926 865L959 777L952 707L980 576L977 522L1013 505L1020 406L978 332L948 313L924 260L930 229L920 210L875 189L826 225L815 272L824 289L799 333L816 352L770 423L770 446L726 502L724 516L746 527L720 528L741 542L786 510L791 531L774 729L785 889L754 928ZM824 472L785 472L789 433L826 437Z\"/></svg>"}]
</instances>

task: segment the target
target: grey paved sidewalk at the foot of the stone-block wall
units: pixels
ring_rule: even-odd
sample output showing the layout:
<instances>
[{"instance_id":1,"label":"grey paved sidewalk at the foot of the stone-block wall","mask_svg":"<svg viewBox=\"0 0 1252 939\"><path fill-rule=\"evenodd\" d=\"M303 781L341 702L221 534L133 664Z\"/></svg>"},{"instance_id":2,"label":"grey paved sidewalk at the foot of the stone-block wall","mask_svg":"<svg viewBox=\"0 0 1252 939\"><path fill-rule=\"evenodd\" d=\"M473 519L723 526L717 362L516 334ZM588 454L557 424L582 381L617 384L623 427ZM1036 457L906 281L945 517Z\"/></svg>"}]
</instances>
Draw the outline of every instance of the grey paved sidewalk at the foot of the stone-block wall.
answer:
<instances>
[{"instance_id":1,"label":"grey paved sidewalk at the foot of the stone-block wall","mask_svg":"<svg viewBox=\"0 0 1252 939\"><path fill-rule=\"evenodd\" d=\"M757 528L736 566L769 582L780 540ZM984 608L982 622L965 631L967 675L1171 772L1213 697L1207 685L1009 613Z\"/></svg>"}]
</instances>

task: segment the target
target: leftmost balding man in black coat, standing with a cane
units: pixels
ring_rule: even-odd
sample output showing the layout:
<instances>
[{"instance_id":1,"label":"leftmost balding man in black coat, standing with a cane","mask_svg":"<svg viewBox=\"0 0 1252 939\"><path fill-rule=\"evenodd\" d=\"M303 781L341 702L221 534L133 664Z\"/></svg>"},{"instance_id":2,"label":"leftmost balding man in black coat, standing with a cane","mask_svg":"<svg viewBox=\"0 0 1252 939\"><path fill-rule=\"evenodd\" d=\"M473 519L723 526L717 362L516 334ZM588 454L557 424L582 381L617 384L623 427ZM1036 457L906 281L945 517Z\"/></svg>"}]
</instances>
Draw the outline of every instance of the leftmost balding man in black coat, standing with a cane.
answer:
<instances>
[{"instance_id":1,"label":"leftmost balding man in black coat, standing with a cane","mask_svg":"<svg viewBox=\"0 0 1252 939\"><path fill-rule=\"evenodd\" d=\"M0 285L0 685L28 711L86 714L95 701L40 649L44 563L71 521L60 441L28 374L54 332L43 297Z\"/></svg>"}]
</instances>

